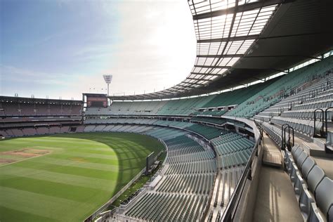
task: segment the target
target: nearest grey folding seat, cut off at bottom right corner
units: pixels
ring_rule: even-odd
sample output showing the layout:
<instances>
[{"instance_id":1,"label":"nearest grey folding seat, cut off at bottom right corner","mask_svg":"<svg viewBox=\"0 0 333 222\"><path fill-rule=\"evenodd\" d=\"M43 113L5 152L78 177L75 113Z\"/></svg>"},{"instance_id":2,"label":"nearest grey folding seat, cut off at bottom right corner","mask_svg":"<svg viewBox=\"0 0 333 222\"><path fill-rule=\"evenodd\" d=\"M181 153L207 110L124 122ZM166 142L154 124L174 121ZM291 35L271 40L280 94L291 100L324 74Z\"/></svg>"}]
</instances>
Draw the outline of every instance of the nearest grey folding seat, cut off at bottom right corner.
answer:
<instances>
[{"instance_id":1,"label":"nearest grey folding seat, cut off at bottom right corner","mask_svg":"<svg viewBox=\"0 0 333 222\"><path fill-rule=\"evenodd\" d=\"M315 202L327 221L333 221L333 181L325 176L315 189Z\"/></svg>"}]
</instances>

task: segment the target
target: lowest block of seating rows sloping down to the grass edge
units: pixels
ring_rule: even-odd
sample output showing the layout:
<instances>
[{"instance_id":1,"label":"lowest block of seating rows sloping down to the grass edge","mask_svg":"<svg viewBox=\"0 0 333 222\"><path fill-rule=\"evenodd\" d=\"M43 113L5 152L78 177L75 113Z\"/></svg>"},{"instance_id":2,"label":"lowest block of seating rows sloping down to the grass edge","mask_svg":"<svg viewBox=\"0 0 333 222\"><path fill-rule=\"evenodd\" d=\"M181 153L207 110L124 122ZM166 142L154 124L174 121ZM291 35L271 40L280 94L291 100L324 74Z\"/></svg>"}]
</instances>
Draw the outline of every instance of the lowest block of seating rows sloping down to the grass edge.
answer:
<instances>
[{"instance_id":1,"label":"lowest block of seating rows sloping down to the grass edge","mask_svg":"<svg viewBox=\"0 0 333 222\"><path fill-rule=\"evenodd\" d=\"M146 221L200 220L214 184L214 152L183 135L164 138L164 143L169 152L162 181L155 190L145 192L125 215Z\"/></svg>"}]
</instances>

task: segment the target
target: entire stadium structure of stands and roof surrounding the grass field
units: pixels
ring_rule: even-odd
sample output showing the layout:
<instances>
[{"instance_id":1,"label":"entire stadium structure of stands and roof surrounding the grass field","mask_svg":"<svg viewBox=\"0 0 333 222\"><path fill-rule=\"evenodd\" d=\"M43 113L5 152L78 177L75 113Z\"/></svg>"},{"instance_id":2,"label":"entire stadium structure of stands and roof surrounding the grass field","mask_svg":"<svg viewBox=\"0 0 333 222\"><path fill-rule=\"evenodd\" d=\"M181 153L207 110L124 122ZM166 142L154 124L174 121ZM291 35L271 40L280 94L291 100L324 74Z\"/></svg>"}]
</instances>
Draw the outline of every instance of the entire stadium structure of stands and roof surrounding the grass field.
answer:
<instances>
[{"instance_id":1,"label":"entire stadium structure of stands and roof surrounding the grass field","mask_svg":"<svg viewBox=\"0 0 333 222\"><path fill-rule=\"evenodd\" d=\"M333 221L332 1L188 4L197 58L184 81L84 93L104 101L84 112L85 99L1 96L0 136L129 132L164 143L154 180L97 221Z\"/></svg>"}]
</instances>

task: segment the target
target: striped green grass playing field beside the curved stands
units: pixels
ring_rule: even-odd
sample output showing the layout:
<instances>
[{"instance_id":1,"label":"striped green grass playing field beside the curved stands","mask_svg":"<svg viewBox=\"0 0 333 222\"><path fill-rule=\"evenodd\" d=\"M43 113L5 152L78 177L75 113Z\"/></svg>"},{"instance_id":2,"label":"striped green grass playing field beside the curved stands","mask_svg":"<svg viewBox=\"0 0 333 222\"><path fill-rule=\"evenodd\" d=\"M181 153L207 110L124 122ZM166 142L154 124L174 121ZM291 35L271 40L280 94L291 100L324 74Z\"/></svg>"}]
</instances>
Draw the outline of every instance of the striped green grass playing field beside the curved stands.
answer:
<instances>
[{"instance_id":1,"label":"striped green grass playing field beside the curved stands","mask_svg":"<svg viewBox=\"0 0 333 222\"><path fill-rule=\"evenodd\" d=\"M13 150L49 150L23 158ZM83 221L131 181L162 143L133 133L72 133L0 141L0 221ZM8 155L8 151L11 152Z\"/></svg>"}]
</instances>

